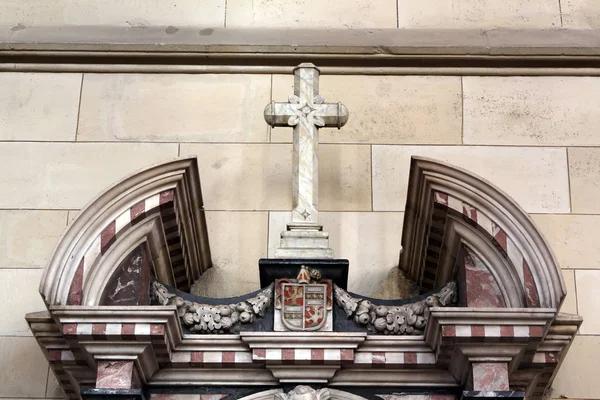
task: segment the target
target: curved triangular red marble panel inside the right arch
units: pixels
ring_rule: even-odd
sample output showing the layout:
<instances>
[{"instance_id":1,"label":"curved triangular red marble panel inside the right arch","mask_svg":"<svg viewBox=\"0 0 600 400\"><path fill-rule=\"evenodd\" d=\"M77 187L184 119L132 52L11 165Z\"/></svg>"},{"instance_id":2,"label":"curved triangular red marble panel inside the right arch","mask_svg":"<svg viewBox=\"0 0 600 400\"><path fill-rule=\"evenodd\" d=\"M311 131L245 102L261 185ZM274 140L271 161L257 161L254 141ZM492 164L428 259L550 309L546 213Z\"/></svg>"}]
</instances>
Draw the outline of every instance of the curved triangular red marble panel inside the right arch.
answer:
<instances>
[{"instance_id":1,"label":"curved triangular red marble panel inside the right arch","mask_svg":"<svg viewBox=\"0 0 600 400\"><path fill-rule=\"evenodd\" d=\"M468 248L464 255L468 307L504 307L502 291L484 262Z\"/></svg>"}]
</instances>

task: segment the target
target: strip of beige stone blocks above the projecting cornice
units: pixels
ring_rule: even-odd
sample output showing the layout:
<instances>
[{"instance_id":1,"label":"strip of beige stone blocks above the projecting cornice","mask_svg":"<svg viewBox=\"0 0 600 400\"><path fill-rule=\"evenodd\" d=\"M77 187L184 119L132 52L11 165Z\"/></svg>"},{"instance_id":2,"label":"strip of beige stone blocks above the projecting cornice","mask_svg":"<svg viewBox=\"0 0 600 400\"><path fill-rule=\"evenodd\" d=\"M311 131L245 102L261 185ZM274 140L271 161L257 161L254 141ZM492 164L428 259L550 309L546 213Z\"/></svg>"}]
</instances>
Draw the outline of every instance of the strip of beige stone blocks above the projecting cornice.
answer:
<instances>
[{"instance_id":1,"label":"strip of beige stone blocks above the projecting cornice","mask_svg":"<svg viewBox=\"0 0 600 400\"><path fill-rule=\"evenodd\" d=\"M600 28L596 0L4 0L0 25Z\"/></svg>"}]
</instances>

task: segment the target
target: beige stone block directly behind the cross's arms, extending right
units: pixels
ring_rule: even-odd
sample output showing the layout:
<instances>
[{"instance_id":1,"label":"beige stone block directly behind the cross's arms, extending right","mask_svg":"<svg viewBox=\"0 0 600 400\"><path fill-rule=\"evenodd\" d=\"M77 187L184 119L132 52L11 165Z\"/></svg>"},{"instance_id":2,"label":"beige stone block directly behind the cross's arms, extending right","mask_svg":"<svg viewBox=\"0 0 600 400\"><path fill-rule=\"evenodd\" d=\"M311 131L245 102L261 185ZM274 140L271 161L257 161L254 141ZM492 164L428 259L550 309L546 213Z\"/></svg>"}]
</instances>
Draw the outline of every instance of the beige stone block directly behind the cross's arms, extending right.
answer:
<instances>
[{"instance_id":1,"label":"beige stone block directly behind the cross's arms, extending right","mask_svg":"<svg viewBox=\"0 0 600 400\"><path fill-rule=\"evenodd\" d=\"M322 143L460 144L460 77L330 76L319 82L327 102L350 111L340 130L319 130ZM273 100L294 93L291 75L273 76ZM271 141L290 142L291 130L274 128Z\"/></svg>"}]
</instances>

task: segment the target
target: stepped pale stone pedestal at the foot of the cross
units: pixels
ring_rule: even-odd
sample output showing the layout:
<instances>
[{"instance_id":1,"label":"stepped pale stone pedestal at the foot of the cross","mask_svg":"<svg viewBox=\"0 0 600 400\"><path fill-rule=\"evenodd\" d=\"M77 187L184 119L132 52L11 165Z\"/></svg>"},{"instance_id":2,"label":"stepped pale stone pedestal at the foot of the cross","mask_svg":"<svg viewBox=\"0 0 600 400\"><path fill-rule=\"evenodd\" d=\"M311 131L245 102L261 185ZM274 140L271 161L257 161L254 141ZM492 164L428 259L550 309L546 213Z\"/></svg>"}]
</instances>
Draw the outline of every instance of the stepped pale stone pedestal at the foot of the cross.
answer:
<instances>
[{"instance_id":1,"label":"stepped pale stone pedestal at the foot of the cross","mask_svg":"<svg viewBox=\"0 0 600 400\"><path fill-rule=\"evenodd\" d=\"M329 233L319 224L290 223L281 232L276 258L333 258L329 248Z\"/></svg>"}]
</instances>

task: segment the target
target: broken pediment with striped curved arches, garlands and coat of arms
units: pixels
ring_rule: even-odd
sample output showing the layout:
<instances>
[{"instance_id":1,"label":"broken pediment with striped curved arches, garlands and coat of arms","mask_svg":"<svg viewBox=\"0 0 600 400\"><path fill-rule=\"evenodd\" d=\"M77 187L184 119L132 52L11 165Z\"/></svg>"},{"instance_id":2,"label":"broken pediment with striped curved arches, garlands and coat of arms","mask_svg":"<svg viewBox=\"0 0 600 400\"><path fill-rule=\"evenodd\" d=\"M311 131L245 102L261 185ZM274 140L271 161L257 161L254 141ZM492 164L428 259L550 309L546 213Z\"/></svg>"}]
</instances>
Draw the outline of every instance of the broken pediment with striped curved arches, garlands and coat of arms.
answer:
<instances>
[{"instance_id":1,"label":"broken pediment with striped curved arches, garlands and coat of arms","mask_svg":"<svg viewBox=\"0 0 600 400\"><path fill-rule=\"evenodd\" d=\"M350 293L353 266L332 258L261 260L256 292L198 298L210 249L196 161L151 167L69 227L41 282L48 311L27 320L70 399L304 399L320 385L340 399L541 398L581 324L558 312L545 240L459 168L414 158L408 193L400 267L414 298ZM290 395L297 383L315 393Z\"/></svg>"}]
</instances>

